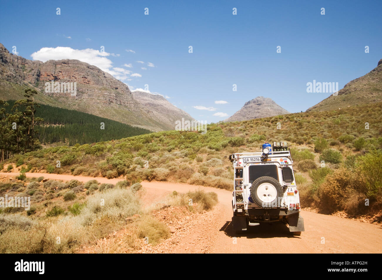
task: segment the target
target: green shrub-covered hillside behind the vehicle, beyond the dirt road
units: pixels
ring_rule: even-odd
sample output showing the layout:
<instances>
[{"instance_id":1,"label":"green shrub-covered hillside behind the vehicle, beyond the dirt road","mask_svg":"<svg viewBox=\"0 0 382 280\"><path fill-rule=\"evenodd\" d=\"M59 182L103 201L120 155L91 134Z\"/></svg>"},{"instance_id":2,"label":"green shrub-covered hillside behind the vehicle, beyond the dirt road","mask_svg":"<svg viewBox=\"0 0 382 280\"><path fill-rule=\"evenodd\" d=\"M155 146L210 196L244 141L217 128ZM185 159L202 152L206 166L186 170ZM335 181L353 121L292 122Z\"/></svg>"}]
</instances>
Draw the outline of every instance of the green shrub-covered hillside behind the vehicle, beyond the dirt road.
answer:
<instances>
[{"instance_id":1,"label":"green shrub-covered hillside behind the vehicle, beyond the dirt road","mask_svg":"<svg viewBox=\"0 0 382 280\"><path fill-rule=\"evenodd\" d=\"M3 168L176 181L231 189L233 172L227 159L230 153L257 151L264 141L287 141L302 189L307 190L306 195L302 194L303 206L323 205L321 194L325 192L316 192L317 189L325 184L327 176L340 176L338 170L346 168L352 156L358 160L358 169L352 172L364 174L362 190L355 191L360 197L367 196L364 198L375 206L381 197L375 182L382 178L378 172L367 176L362 162L363 156L370 156L373 161L380 158L381 108L379 103L327 112L294 113L211 124L206 134L162 131L91 145L52 147L16 155L7 160ZM277 129L280 126L281 129ZM61 162L60 168L55 167L57 160ZM324 190L324 186L322 188ZM366 191L367 188L371 191ZM346 200L350 194L343 197ZM345 209L345 203L338 205L332 210ZM324 208L322 206L326 211Z\"/></svg>"}]
</instances>

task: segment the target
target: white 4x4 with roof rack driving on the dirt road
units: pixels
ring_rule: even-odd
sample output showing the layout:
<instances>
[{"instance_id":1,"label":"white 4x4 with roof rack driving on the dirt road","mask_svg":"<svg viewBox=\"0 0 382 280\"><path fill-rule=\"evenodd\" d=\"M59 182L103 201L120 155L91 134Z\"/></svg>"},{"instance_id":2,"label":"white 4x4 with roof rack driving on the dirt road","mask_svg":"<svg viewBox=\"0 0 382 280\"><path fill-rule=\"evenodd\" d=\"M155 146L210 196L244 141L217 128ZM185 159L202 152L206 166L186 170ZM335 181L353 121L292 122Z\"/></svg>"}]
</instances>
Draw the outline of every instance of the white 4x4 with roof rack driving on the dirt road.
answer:
<instances>
[{"instance_id":1,"label":"white 4x4 with roof rack driving on the dirt road","mask_svg":"<svg viewBox=\"0 0 382 280\"><path fill-rule=\"evenodd\" d=\"M304 231L300 200L286 142L262 145L262 151L231 154L233 217L236 232L260 223L283 222L293 235Z\"/></svg>"}]
</instances>

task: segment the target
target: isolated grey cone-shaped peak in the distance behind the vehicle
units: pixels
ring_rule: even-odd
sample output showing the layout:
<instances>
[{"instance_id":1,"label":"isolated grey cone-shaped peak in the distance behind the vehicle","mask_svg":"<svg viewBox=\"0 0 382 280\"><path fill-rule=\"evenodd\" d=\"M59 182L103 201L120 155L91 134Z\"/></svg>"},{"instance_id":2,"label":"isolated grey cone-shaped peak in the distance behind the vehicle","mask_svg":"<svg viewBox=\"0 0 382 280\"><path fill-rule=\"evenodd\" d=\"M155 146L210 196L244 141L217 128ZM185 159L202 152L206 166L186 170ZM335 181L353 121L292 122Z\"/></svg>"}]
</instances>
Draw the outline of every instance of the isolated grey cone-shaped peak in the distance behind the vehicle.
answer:
<instances>
[{"instance_id":1,"label":"isolated grey cone-shaped peak in the distance behind the vehicle","mask_svg":"<svg viewBox=\"0 0 382 280\"><path fill-rule=\"evenodd\" d=\"M240 110L224 121L244 121L288 113L287 110L277 105L272 99L258 96L255 99L246 102Z\"/></svg>"}]
</instances>

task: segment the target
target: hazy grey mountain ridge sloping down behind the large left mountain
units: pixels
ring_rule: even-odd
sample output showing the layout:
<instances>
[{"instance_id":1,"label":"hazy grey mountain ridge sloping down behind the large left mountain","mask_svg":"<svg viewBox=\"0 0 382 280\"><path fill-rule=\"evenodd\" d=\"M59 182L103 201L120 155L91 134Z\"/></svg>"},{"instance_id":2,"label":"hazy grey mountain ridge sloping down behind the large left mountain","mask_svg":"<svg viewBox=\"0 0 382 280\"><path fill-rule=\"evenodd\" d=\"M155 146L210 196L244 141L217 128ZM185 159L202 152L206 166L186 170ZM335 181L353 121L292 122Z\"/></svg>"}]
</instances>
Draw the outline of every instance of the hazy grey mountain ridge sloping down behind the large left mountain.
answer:
<instances>
[{"instance_id":1,"label":"hazy grey mountain ridge sloping down behind the large left mountain","mask_svg":"<svg viewBox=\"0 0 382 280\"><path fill-rule=\"evenodd\" d=\"M175 121L194 120L188 113L175 107L160 94L151 94L142 91L133 91L133 97L144 108L144 112L155 120L162 120L163 123L175 129Z\"/></svg>"}]
</instances>

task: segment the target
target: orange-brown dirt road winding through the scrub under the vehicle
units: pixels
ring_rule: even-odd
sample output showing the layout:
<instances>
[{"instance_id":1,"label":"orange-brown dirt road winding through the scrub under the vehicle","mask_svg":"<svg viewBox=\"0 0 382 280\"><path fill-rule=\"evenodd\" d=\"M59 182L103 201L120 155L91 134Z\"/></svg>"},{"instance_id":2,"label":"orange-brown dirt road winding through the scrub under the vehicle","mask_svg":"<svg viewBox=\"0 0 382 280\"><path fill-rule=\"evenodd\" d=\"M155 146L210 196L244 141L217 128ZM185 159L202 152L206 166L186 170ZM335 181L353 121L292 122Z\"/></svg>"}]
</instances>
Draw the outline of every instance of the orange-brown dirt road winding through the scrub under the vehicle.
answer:
<instances>
[{"instance_id":1,"label":"orange-brown dirt road winding through the scrub under the vehicle","mask_svg":"<svg viewBox=\"0 0 382 280\"><path fill-rule=\"evenodd\" d=\"M0 173L5 176L17 176L19 173ZM92 179L100 183L115 184L122 179L86 177L46 173L26 173L27 177L39 177L86 182ZM214 253L381 253L382 227L370 223L348 220L332 215L322 215L302 211L305 231L301 236L291 236L283 224L259 225L248 233L237 235L231 227L231 192L204 186L194 186L168 182L142 182L145 196L154 201L172 191L187 192L202 188L218 194L216 209L207 212L205 219L190 228L189 233L174 252L198 252L208 247ZM208 243L201 240L208 239ZM187 250L186 250L187 249Z\"/></svg>"}]
</instances>

